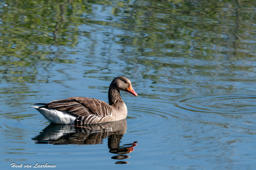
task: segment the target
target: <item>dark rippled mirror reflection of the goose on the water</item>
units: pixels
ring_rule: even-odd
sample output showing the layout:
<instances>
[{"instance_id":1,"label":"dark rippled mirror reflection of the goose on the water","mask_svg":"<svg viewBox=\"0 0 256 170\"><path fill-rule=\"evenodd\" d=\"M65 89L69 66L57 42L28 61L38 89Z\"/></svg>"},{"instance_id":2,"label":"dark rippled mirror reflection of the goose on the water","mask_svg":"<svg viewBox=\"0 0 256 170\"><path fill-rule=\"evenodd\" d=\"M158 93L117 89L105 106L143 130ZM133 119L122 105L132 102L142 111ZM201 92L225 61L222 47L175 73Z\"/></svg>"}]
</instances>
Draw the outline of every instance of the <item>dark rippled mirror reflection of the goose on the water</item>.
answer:
<instances>
[{"instance_id":1,"label":"dark rippled mirror reflection of the goose on the water","mask_svg":"<svg viewBox=\"0 0 256 170\"><path fill-rule=\"evenodd\" d=\"M108 138L107 146L110 153L117 154L112 159L127 159L130 156L125 155L134 151L137 142L129 143L120 147L120 142L127 129L126 119L101 123L95 125L71 126L51 123L36 137L36 143L53 145L97 145L103 143L104 138ZM116 164L128 163L118 161Z\"/></svg>"}]
</instances>

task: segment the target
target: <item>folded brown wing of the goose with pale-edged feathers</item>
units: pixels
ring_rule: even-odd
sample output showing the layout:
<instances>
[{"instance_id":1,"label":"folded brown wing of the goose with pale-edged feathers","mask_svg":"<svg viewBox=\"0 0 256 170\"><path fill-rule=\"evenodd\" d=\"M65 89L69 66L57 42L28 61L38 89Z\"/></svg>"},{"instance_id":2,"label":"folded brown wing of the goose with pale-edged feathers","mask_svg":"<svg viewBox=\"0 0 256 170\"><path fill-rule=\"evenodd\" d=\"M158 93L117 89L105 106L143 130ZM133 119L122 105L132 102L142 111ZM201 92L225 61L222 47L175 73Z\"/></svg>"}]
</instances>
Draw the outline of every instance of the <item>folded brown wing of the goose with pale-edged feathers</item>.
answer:
<instances>
[{"instance_id":1,"label":"folded brown wing of the goose with pale-edged feathers","mask_svg":"<svg viewBox=\"0 0 256 170\"><path fill-rule=\"evenodd\" d=\"M112 109L109 104L88 97L70 97L67 99L55 100L42 107L66 111L76 117L96 115L105 117L112 114Z\"/></svg>"}]
</instances>

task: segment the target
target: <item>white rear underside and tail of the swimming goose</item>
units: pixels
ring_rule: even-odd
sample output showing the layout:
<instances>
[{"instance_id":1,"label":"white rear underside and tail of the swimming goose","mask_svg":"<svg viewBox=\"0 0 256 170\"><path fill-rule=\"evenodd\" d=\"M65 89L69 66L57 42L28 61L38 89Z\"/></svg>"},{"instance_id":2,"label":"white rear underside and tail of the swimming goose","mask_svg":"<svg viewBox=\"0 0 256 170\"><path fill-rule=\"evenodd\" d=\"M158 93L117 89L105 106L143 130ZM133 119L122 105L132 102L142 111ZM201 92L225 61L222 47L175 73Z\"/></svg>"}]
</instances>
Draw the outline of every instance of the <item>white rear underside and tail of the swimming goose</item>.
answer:
<instances>
[{"instance_id":1,"label":"white rear underside and tail of the swimming goose","mask_svg":"<svg viewBox=\"0 0 256 170\"><path fill-rule=\"evenodd\" d=\"M75 116L72 116L60 110L39 108L39 106L31 106L31 107L38 110L40 114L45 116L45 118L52 123L72 125L76 120Z\"/></svg>"}]
</instances>

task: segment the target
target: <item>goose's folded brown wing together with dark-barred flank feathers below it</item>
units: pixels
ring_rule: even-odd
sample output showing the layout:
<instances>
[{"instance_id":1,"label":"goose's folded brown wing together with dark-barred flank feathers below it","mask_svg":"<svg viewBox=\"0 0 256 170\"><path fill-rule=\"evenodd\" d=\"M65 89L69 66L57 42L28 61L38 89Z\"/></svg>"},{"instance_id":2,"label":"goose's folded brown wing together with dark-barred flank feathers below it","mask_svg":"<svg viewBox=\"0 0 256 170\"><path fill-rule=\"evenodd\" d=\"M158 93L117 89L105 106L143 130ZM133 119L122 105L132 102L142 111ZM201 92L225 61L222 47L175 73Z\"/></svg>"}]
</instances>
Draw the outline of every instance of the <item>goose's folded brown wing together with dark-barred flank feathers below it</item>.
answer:
<instances>
[{"instance_id":1,"label":"goose's folded brown wing together with dark-barred flank feathers below it","mask_svg":"<svg viewBox=\"0 0 256 170\"><path fill-rule=\"evenodd\" d=\"M109 104L88 97L55 100L42 107L68 112L77 117L74 122L77 126L113 121L113 109Z\"/></svg>"}]
</instances>

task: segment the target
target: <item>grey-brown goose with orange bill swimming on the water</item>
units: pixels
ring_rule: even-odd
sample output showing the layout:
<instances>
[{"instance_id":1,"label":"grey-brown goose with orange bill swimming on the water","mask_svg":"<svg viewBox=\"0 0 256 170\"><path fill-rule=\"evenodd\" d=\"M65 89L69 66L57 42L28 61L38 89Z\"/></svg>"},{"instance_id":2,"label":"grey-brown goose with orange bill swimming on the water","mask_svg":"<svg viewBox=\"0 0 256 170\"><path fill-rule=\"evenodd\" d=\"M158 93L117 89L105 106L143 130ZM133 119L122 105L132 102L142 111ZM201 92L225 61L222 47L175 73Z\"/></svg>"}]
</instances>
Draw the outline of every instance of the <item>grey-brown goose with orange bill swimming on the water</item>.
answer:
<instances>
[{"instance_id":1,"label":"grey-brown goose with orange bill swimming on the water","mask_svg":"<svg viewBox=\"0 0 256 170\"><path fill-rule=\"evenodd\" d=\"M122 100L120 90L137 96L131 81L123 76L115 78L109 86L109 104L88 97L69 97L51 101L48 104L38 103L32 106L45 118L57 124L89 125L125 119L127 107Z\"/></svg>"}]
</instances>

